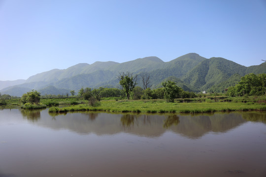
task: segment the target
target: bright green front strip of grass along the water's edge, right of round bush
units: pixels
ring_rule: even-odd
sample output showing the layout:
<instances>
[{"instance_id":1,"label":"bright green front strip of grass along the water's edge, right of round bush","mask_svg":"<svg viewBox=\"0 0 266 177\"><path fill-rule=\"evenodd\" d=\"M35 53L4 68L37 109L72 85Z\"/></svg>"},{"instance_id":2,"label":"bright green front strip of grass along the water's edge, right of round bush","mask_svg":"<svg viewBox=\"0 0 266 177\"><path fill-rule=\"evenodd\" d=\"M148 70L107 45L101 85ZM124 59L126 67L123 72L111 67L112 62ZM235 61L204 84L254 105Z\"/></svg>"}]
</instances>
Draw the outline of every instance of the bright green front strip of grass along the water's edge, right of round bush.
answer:
<instances>
[{"instance_id":1,"label":"bright green front strip of grass along the water's edge, right of round bush","mask_svg":"<svg viewBox=\"0 0 266 177\"><path fill-rule=\"evenodd\" d=\"M98 107L86 104L64 108L50 108L49 112L67 111L106 111L122 113L212 113L216 111L266 111L266 106L261 104L248 105L242 102L213 102L213 103L166 103L163 100L134 100L134 101L100 101Z\"/></svg>"}]
</instances>

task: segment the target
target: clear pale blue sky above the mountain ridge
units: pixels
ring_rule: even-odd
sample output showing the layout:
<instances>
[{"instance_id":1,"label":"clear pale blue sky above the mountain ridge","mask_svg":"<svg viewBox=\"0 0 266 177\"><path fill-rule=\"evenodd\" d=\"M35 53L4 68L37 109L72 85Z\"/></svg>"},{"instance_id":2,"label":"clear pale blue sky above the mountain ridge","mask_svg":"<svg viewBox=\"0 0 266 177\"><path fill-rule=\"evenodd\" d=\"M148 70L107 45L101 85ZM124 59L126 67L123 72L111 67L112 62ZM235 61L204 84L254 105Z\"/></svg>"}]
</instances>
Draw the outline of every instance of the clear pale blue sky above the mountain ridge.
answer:
<instances>
[{"instance_id":1,"label":"clear pale blue sky above the mountain ridge","mask_svg":"<svg viewBox=\"0 0 266 177\"><path fill-rule=\"evenodd\" d=\"M0 0L0 80L187 53L266 60L266 0Z\"/></svg>"}]
</instances>

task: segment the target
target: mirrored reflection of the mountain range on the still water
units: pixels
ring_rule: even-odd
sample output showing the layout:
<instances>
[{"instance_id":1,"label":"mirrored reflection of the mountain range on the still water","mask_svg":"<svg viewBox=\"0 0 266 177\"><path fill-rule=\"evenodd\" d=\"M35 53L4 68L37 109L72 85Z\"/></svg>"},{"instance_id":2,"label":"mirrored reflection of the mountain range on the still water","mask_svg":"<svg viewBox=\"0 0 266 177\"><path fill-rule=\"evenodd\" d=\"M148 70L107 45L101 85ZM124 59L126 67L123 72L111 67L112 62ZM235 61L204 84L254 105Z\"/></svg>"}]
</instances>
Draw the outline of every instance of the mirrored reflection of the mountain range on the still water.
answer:
<instances>
[{"instance_id":1,"label":"mirrored reflection of the mountain range on the still water","mask_svg":"<svg viewBox=\"0 0 266 177\"><path fill-rule=\"evenodd\" d=\"M203 115L137 115L107 113L67 113L49 115L41 112L35 124L52 129L68 129L81 134L98 135L131 133L146 137L159 137L172 131L188 138L199 138L207 132L226 132L246 120L243 113L217 113Z\"/></svg>"}]
</instances>

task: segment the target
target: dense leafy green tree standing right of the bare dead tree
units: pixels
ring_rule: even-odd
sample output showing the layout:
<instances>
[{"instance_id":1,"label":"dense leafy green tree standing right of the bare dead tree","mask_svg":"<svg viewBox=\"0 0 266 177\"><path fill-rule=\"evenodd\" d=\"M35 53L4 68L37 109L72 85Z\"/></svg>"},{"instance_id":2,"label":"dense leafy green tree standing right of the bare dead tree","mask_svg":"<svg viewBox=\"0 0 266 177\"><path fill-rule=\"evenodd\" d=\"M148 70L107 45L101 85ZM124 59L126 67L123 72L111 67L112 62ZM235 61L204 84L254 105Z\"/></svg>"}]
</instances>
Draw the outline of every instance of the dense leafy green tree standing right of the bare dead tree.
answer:
<instances>
[{"instance_id":1,"label":"dense leafy green tree standing right of the bare dead tree","mask_svg":"<svg viewBox=\"0 0 266 177\"><path fill-rule=\"evenodd\" d=\"M174 102L174 98L178 98L180 96L182 89L177 87L175 84L176 83L172 81L166 81L162 83L165 91L164 96L167 102Z\"/></svg>"}]
</instances>

